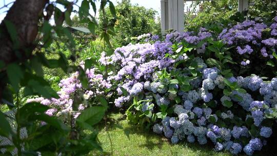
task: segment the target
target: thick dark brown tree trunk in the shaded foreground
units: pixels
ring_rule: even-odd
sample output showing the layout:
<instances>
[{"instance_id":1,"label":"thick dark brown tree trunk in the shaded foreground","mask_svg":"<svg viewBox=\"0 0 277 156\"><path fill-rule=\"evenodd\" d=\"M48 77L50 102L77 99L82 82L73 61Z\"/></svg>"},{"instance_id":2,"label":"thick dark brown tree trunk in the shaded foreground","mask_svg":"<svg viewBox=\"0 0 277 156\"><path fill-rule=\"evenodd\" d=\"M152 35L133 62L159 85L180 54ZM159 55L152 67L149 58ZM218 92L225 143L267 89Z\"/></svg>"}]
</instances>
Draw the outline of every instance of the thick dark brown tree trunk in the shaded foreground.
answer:
<instances>
[{"instance_id":1,"label":"thick dark brown tree trunk in the shaded foreground","mask_svg":"<svg viewBox=\"0 0 277 156\"><path fill-rule=\"evenodd\" d=\"M49 0L16 0L9 9L6 17L0 25L0 61L6 65L12 62L26 60L26 52L34 50L35 38L38 30L38 19L43 15L43 9ZM5 22L9 21L15 26L17 48L6 28ZM1 71L5 72L5 71ZM2 77L3 78L3 77ZM0 83L0 100L5 88L5 80Z\"/></svg>"}]
</instances>

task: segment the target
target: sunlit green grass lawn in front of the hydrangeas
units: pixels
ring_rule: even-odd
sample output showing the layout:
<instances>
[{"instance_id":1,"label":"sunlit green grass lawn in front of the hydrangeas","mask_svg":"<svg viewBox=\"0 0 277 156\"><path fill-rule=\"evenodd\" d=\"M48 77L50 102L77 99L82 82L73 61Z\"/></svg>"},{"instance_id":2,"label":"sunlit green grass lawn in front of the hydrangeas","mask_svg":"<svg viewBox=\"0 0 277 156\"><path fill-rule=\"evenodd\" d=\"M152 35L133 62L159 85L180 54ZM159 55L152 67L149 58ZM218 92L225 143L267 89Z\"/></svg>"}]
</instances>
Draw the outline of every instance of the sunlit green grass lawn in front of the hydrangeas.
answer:
<instances>
[{"instance_id":1,"label":"sunlit green grass lawn in front of the hydrangeas","mask_svg":"<svg viewBox=\"0 0 277 156\"><path fill-rule=\"evenodd\" d=\"M104 152L95 151L90 155L231 155L228 152L213 151L212 145L201 146L187 142L172 145L162 135L129 124L120 113L108 115L106 122L99 124L98 129L98 139Z\"/></svg>"}]
</instances>

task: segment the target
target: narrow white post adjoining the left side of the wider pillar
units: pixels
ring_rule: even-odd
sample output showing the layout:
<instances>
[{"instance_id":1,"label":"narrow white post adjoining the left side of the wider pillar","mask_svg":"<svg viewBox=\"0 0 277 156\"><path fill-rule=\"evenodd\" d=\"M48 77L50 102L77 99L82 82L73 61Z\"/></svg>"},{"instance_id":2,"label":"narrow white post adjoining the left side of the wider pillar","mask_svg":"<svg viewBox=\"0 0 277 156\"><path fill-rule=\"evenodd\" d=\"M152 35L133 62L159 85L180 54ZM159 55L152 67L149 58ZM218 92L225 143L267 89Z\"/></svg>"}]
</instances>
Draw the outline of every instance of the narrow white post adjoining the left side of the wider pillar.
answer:
<instances>
[{"instance_id":1,"label":"narrow white post adjoining the left side of the wider pillar","mask_svg":"<svg viewBox=\"0 0 277 156\"><path fill-rule=\"evenodd\" d=\"M161 29L165 35L165 30L168 30L168 0L161 0Z\"/></svg>"}]
</instances>

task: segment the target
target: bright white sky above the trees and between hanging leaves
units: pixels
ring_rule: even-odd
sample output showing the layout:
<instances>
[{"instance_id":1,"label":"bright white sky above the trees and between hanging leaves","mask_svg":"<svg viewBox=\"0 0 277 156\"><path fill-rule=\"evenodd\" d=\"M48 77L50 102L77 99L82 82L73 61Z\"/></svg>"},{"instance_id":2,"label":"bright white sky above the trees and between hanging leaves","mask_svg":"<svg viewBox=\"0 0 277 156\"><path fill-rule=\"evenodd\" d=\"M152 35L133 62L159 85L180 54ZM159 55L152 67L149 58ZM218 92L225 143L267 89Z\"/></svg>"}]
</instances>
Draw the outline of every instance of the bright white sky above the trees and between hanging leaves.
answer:
<instances>
[{"instance_id":1,"label":"bright white sky above the trees and between hanging leaves","mask_svg":"<svg viewBox=\"0 0 277 156\"><path fill-rule=\"evenodd\" d=\"M9 4L10 2L14 2L15 0L0 0L0 8L2 8L4 6L4 2L5 4ZM39 1L39 0L38 0ZM50 0L51 1L51 0ZM54 0L52 0L54 1ZM114 5L117 5L117 2L121 2L121 0L110 0ZM81 0L79 0L79 2L77 3L78 6L81 6ZM131 3L133 5L138 4L138 6L143 6L147 9L152 8L154 10L156 10L159 15L161 13L161 0L131 0ZM189 6L191 2L186 2L186 5ZM11 5L9 5L9 7L11 7ZM58 7L58 6L57 6ZM100 8L100 2L96 3L96 7ZM63 11L63 8L58 7ZM186 6L185 6L186 8ZM74 9L77 9L77 7L75 7ZM6 11L8 10L8 8L4 8L0 10L0 23L2 22L2 20L4 19L4 17L6 16ZM92 9L91 9L91 13L92 13ZM72 14L71 17L73 17L74 14ZM97 14L96 14L97 16Z\"/></svg>"}]
</instances>

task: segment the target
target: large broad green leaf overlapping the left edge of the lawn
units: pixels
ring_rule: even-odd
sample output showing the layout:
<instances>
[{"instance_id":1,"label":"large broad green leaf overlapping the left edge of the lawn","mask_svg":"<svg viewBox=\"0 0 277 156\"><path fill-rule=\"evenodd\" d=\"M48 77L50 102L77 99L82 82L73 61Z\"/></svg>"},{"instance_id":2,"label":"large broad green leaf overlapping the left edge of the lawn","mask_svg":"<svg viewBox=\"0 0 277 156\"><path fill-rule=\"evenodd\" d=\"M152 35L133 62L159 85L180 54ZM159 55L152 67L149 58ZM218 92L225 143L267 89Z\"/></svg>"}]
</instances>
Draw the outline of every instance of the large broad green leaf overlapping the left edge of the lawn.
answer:
<instances>
[{"instance_id":1,"label":"large broad green leaf overlapping the left edge of the lawn","mask_svg":"<svg viewBox=\"0 0 277 156\"><path fill-rule=\"evenodd\" d=\"M93 106L84 110L76 120L93 126L103 119L105 111L106 107Z\"/></svg>"}]
</instances>

